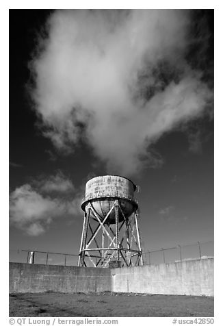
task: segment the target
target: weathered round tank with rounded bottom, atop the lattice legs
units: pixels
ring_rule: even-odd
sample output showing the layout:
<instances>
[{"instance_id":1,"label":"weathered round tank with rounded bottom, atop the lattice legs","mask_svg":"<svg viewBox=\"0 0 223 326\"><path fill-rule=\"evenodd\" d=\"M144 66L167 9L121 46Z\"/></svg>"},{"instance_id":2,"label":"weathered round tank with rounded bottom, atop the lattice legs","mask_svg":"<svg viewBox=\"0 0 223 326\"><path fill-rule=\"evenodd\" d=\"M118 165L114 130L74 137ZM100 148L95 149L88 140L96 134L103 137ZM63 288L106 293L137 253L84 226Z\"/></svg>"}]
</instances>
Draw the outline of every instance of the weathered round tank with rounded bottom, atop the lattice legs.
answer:
<instances>
[{"instance_id":1,"label":"weathered round tank with rounded bottom, atop the lattice legs","mask_svg":"<svg viewBox=\"0 0 223 326\"><path fill-rule=\"evenodd\" d=\"M134 199L135 189L135 184L125 177L118 175L94 177L86 183L86 196L81 204L81 208L86 211L90 206L103 221L114 202L118 199L124 216L128 218L137 209L137 203ZM96 220L92 210L90 217ZM118 221L124 221L120 210L118 210ZM115 210L112 210L111 214L109 214L106 223L116 223Z\"/></svg>"}]
</instances>

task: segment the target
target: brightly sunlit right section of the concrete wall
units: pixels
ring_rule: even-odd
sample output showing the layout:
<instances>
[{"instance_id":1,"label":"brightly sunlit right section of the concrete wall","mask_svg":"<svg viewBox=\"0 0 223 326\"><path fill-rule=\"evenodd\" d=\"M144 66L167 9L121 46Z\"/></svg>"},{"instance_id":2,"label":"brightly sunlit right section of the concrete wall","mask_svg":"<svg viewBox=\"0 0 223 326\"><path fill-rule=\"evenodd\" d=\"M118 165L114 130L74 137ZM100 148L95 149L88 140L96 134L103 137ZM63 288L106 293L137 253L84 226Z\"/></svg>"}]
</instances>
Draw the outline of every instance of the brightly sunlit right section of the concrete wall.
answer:
<instances>
[{"instance_id":1,"label":"brightly sunlit right section of the concrete wall","mask_svg":"<svg viewBox=\"0 0 223 326\"><path fill-rule=\"evenodd\" d=\"M112 270L114 292L213 296L213 258Z\"/></svg>"}]
</instances>

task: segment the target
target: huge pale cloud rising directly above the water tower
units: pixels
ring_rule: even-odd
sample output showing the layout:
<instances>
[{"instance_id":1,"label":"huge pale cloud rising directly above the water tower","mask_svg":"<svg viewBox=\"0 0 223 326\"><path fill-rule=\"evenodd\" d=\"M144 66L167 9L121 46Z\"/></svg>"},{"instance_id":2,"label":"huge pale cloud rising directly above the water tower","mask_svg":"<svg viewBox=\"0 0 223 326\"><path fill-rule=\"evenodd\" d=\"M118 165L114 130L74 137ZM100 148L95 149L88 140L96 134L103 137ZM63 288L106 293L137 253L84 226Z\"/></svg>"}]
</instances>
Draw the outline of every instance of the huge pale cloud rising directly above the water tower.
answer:
<instances>
[{"instance_id":1,"label":"huge pale cloud rising directly above the water tower","mask_svg":"<svg viewBox=\"0 0 223 326\"><path fill-rule=\"evenodd\" d=\"M159 166L150 145L213 96L185 60L190 24L187 10L55 11L29 65L44 136L63 151L81 137L108 173Z\"/></svg>"}]
</instances>

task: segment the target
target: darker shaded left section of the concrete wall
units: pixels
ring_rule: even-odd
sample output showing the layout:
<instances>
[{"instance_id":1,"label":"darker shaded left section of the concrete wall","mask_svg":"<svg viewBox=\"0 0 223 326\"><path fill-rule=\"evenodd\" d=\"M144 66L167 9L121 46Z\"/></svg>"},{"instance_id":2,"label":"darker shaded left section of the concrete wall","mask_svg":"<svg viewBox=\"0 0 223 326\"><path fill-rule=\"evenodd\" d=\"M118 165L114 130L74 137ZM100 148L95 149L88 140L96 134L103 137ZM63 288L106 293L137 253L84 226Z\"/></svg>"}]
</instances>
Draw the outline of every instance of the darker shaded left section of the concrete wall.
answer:
<instances>
[{"instance_id":1,"label":"darker shaded left section of the concrete wall","mask_svg":"<svg viewBox=\"0 0 223 326\"><path fill-rule=\"evenodd\" d=\"M109 268L10 263L12 292L111 291Z\"/></svg>"}]
</instances>

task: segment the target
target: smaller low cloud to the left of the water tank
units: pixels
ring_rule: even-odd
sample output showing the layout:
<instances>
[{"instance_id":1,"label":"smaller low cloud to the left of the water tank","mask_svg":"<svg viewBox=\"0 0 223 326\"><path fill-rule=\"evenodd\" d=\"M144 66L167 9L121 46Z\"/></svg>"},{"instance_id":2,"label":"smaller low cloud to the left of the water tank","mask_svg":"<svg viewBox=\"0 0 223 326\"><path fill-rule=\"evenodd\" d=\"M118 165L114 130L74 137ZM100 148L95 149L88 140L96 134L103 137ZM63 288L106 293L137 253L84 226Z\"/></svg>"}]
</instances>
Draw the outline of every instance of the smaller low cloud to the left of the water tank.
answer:
<instances>
[{"instance_id":1,"label":"smaller low cloud to the left of the water tank","mask_svg":"<svg viewBox=\"0 0 223 326\"><path fill-rule=\"evenodd\" d=\"M80 214L77 195L73 199L61 196L62 192L67 193L74 187L64 175L60 186L60 177L55 175L46 181L34 181L36 188L24 184L11 192L10 223L23 229L29 236L38 236L46 231L55 218ZM60 192L60 197L53 196L55 192Z\"/></svg>"}]
</instances>

